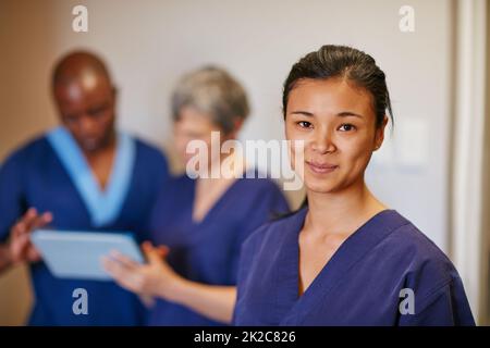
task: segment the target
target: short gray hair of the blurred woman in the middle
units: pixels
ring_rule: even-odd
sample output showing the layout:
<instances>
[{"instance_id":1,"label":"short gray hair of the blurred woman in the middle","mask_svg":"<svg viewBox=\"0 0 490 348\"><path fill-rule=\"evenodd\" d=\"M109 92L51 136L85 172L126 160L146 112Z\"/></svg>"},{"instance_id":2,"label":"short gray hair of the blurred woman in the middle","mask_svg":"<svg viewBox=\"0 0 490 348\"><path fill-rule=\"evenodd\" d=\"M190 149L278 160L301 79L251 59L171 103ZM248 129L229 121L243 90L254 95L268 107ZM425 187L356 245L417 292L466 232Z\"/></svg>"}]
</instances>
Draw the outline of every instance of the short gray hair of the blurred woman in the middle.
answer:
<instances>
[{"instance_id":1,"label":"short gray hair of the blurred woman in the middle","mask_svg":"<svg viewBox=\"0 0 490 348\"><path fill-rule=\"evenodd\" d=\"M245 120L249 113L242 85L226 71L216 66L191 72L177 83L172 95L174 121L179 120L185 107L209 115L224 133L233 130L235 120Z\"/></svg>"}]
</instances>

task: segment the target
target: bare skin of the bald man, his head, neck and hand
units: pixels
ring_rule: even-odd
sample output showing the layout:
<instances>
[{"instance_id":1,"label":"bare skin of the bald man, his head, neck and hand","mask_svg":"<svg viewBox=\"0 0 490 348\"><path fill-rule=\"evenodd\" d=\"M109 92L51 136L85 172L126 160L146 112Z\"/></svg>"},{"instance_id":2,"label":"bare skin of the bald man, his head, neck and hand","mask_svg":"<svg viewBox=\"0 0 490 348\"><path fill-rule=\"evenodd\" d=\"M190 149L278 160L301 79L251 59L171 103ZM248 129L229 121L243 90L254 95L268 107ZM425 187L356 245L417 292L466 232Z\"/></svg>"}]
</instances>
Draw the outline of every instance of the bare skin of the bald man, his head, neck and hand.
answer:
<instances>
[{"instance_id":1,"label":"bare skin of the bald man, his head, neck and hand","mask_svg":"<svg viewBox=\"0 0 490 348\"><path fill-rule=\"evenodd\" d=\"M70 130L89 164L100 189L111 175L115 154L115 88L96 55L73 52L60 60L52 76L52 92L61 123ZM32 207L0 245L0 272L10 265L40 260L29 234L52 221L50 212Z\"/></svg>"}]
</instances>

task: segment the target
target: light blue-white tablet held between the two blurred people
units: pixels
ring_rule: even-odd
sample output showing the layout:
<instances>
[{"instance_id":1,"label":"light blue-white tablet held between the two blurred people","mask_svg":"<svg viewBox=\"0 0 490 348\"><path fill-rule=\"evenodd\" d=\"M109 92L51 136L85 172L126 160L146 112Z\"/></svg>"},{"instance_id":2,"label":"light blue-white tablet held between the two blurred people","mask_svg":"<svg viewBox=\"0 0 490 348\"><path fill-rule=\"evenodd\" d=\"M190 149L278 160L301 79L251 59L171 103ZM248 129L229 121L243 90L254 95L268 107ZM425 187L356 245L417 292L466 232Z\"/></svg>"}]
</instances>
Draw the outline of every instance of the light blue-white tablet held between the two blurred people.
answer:
<instances>
[{"instance_id":1,"label":"light blue-white tablet held between the two blurred people","mask_svg":"<svg viewBox=\"0 0 490 348\"><path fill-rule=\"evenodd\" d=\"M101 258L118 250L139 263L143 254L127 233L37 229L30 240L51 273L60 278L111 281Z\"/></svg>"}]
</instances>

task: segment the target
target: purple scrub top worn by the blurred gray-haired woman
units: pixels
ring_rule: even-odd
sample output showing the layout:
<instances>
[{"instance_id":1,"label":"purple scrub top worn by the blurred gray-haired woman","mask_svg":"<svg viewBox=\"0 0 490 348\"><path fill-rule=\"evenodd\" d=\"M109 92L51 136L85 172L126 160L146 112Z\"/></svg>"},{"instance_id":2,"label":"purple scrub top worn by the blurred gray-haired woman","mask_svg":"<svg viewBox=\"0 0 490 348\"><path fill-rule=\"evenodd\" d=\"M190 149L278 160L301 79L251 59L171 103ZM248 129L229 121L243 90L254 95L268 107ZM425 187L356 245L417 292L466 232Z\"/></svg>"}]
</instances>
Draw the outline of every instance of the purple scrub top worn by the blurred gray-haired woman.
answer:
<instances>
[{"instance_id":1,"label":"purple scrub top worn by the blurred gray-haired woman","mask_svg":"<svg viewBox=\"0 0 490 348\"><path fill-rule=\"evenodd\" d=\"M258 177L258 173L255 173ZM278 186L269 178L240 178L216 202L203 221L193 221L196 182L172 181L151 217L152 239L171 248L173 269L187 279L211 285L235 285L240 249L258 226L289 211ZM158 300L150 325L220 325L183 306Z\"/></svg>"}]
</instances>

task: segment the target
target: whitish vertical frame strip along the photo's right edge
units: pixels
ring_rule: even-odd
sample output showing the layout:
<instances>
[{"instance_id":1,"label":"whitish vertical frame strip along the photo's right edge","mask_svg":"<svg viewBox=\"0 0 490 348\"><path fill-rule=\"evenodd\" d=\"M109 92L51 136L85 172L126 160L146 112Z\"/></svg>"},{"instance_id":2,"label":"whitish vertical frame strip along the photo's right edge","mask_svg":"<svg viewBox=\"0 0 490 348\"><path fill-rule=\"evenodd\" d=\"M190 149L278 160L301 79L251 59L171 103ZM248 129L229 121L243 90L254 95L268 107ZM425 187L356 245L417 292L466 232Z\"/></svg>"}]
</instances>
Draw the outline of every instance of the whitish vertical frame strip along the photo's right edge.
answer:
<instances>
[{"instance_id":1,"label":"whitish vertical frame strip along the photo's right edge","mask_svg":"<svg viewBox=\"0 0 490 348\"><path fill-rule=\"evenodd\" d=\"M452 256L477 322L482 313L486 0L457 1Z\"/></svg>"}]
</instances>

